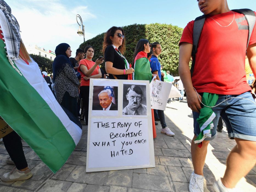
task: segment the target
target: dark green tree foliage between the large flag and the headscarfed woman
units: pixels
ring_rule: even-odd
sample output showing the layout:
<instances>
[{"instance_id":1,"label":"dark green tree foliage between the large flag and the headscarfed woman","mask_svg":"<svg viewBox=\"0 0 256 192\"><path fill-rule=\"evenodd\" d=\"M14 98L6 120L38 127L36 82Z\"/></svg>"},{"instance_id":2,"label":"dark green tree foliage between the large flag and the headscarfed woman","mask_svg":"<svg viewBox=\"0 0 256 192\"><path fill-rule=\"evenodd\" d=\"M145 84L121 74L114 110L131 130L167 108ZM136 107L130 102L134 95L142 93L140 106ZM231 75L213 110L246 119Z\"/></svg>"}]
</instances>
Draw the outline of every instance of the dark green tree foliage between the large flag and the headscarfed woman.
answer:
<instances>
[{"instance_id":1,"label":"dark green tree foliage between the large flag and the headscarfed woman","mask_svg":"<svg viewBox=\"0 0 256 192\"><path fill-rule=\"evenodd\" d=\"M52 74L52 63L53 61L47 57L40 55L29 54L30 57L38 64L41 71L46 71L48 74Z\"/></svg>"}]
</instances>

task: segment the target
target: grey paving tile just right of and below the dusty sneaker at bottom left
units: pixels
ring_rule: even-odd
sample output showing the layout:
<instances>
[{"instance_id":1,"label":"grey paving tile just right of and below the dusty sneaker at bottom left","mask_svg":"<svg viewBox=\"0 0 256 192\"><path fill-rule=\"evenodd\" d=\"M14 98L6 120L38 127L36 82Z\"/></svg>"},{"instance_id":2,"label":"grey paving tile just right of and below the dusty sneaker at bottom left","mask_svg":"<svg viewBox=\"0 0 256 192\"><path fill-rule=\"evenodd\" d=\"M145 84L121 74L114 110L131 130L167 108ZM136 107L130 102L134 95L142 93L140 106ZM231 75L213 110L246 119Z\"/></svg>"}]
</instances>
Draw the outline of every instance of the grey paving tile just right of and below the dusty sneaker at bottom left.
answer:
<instances>
[{"instance_id":1,"label":"grey paving tile just right of and below the dusty sneaker at bottom left","mask_svg":"<svg viewBox=\"0 0 256 192\"><path fill-rule=\"evenodd\" d=\"M43 162L35 166L31 172L33 176L30 179L24 181L16 181L12 184L12 186L35 190L52 174L52 171Z\"/></svg>"}]
</instances>

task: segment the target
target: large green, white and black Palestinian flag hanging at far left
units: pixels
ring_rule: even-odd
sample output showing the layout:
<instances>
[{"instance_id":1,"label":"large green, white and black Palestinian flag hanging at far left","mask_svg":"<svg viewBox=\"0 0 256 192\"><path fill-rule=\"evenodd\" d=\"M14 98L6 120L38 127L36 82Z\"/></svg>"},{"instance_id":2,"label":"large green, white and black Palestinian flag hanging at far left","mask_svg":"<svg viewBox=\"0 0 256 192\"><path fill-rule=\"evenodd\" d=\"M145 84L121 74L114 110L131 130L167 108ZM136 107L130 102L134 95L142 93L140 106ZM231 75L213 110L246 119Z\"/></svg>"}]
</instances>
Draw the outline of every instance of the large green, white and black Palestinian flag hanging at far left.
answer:
<instances>
[{"instance_id":1,"label":"large green, white and black Palestinian flag hanging at far left","mask_svg":"<svg viewBox=\"0 0 256 192\"><path fill-rule=\"evenodd\" d=\"M9 61L4 47L1 36L0 116L56 173L79 142L81 124L61 108L35 61Z\"/></svg>"}]
</instances>

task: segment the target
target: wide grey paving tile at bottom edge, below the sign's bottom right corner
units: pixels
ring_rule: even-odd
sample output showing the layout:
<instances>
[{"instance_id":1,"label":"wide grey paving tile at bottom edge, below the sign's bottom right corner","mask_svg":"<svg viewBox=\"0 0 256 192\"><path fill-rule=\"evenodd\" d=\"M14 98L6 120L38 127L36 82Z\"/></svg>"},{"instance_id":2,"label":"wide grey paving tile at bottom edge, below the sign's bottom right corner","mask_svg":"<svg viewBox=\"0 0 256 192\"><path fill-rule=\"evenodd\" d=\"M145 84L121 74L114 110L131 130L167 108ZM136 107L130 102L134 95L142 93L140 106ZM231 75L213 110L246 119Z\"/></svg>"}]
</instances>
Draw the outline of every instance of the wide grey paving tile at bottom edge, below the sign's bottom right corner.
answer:
<instances>
[{"instance_id":1,"label":"wide grey paving tile at bottom edge, below the sign's bottom right corner","mask_svg":"<svg viewBox=\"0 0 256 192\"><path fill-rule=\"evenodd\" d=\"M139 173L133 174L132 187L154 191L174 191L168 177Z\"/></svg>"}]
</instances>

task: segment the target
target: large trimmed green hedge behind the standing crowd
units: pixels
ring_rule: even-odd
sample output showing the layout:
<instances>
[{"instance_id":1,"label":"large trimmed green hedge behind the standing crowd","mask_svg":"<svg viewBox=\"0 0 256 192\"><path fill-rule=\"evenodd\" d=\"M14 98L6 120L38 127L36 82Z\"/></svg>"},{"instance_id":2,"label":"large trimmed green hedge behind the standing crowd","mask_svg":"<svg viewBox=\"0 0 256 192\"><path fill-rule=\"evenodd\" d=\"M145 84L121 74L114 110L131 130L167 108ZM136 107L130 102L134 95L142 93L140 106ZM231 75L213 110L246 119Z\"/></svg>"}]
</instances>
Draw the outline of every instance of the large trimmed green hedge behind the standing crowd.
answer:
<instances>
[{"instance_id":1,"label":"large trimmed green hedge behind the standing crowd","mask_svg":"<svg viewBox=\"0 0 256 192\"><path fill-rule=\"evenodd\" d=\"M162 47L162 53L158 59L164 66L164 70L170 70L170 72L176 76L178 75L178 63L179 63L179 40L182 35L183 29L171 24L133 24L124 26L126 38L126 52L124 56L128 62L132 63L133 52L137 42L140 39L148 39L150 43L155 41L159 42ZM95 36L82 43L79 48L84 49L86 46L91 45L95 49L94 60L99 56L103 56L102 50L104 33ZM105 66L103 65L103 68Z\"/></svg>"}]
</instances>

